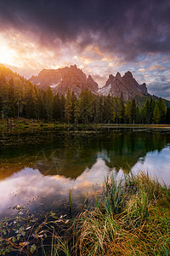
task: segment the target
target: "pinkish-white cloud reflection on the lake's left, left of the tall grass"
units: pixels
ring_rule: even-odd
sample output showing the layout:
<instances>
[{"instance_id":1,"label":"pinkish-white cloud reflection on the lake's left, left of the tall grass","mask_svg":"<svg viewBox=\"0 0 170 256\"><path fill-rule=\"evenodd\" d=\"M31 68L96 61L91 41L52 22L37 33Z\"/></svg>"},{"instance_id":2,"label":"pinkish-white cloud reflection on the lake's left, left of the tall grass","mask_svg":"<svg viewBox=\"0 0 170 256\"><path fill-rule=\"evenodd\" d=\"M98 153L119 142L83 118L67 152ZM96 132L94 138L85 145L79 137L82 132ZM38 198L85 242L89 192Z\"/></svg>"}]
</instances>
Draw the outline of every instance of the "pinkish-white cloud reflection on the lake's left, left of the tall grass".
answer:
<instances>
[{"instance_id":1,"label":"pinkish-white cloud reflection on the lake's left, left of the tall grass","mask_svg":"<svg viewBox=\"0 0 170 256\"><path fill-rule=\"evenodd\" d=\"M89 193L101 191L100 184L109 173L105 161L98 159L76 180L59 175L43 176L37 169L25 168L0 182L0 213L15 205L28 206L32 211L46 212L56 205L63 207L73 189L77 206Z\"/></svg>"}]
</instances>

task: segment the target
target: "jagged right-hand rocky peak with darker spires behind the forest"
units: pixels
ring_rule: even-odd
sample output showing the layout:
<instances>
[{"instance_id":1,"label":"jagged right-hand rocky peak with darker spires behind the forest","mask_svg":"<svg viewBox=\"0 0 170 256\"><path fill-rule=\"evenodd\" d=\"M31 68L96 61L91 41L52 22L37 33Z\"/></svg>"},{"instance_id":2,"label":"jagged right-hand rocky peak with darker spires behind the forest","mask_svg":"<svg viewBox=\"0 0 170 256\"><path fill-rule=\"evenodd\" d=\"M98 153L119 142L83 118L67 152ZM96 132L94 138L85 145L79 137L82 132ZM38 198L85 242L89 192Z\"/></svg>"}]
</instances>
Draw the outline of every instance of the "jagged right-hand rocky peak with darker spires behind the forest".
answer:
<instances>
[{"instance_id":1,"label":"jagged right-hand rocky peak with darker spires behind the forest","mask_svg":"<svg viewBox=\"0 0 170 256\"><path fill-rule=\"evenodd\" d=\"M148 95L145 84L139 85L133 79L133 74L129 71L121 77L120 73L116 73L116 77L112 74L106 81L105 86L98 90L100 95L123 96L124 99L133 98L133 96Z\"/></svg>"}]
</instances>

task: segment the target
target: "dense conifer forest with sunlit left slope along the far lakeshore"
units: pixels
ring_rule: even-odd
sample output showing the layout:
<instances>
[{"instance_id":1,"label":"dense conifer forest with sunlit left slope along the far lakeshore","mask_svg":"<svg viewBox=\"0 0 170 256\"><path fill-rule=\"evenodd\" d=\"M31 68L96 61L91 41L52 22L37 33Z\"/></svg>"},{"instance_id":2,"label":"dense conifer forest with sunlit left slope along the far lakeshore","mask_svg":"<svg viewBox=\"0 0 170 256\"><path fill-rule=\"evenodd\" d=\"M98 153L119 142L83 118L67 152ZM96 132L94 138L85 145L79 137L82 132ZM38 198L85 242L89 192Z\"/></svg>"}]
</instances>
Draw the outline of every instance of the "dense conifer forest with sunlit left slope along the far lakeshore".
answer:
<instances>
[{"instance_id":1,"label":"dense conifer forest with sunlit left slope along the far lakeshore","mask_svg":"<svg viewBox=\"0 0 170 256\"><path fill-rule=\"evenodd\" d=\"M79 96L68 87L66 96L54 95L20 77L0 76L0 112L3 118L39 119L68 124L170 124L170 108L162 98L99 96L83 90Z\"/></svg>"}]
</instances>

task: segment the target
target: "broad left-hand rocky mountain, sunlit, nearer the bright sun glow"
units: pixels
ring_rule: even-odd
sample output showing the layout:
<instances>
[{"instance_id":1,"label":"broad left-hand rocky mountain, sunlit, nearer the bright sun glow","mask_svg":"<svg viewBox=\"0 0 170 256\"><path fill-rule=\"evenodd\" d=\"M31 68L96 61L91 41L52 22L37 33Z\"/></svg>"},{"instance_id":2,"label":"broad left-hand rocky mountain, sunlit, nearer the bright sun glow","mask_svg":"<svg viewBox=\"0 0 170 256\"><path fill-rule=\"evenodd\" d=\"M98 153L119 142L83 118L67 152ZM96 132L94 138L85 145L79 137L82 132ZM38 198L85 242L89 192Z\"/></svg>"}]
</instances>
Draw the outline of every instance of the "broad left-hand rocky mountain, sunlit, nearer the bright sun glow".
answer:
<instances>
[{"instance_id":1,"label":"broad left-hand rocky mountain, sunlit, nearer the bright sun glow","mask_svg":"<svg viewBox=\"0 0 170 256\"><path fill-rule=\"evenodd\" d=\"M75 94L79 95L82 90L88 88L96 93L99 86L91 76L86 76L76 65L59 69L42 69L37 76L29 79L32 84L37 84L42 88L50 86L54 93L65 95L68 87Z\"/></svg>"}]
</instances>

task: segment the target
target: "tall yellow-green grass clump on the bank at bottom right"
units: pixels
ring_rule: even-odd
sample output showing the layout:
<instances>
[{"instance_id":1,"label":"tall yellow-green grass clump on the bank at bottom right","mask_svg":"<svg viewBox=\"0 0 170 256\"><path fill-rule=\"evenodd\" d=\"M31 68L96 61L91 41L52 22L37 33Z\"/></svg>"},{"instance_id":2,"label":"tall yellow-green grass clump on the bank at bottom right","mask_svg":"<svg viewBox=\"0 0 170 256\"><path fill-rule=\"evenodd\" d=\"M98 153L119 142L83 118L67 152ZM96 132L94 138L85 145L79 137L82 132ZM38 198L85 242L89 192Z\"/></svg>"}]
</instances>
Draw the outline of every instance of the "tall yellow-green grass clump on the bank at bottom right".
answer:
<instances>
[{"instance_id":1,"label":"tall yellow-green grass clump on the bank at bottom right","mask_svg":"<svg viewBox=\"0 0 170 256\"><path fill-rule=\"evenodd\" d=\"M75 226L80 255L169 255L170 190L145 173L110 177L103 203Z\"/></svg>"}]
</instances>

